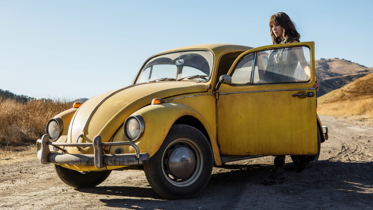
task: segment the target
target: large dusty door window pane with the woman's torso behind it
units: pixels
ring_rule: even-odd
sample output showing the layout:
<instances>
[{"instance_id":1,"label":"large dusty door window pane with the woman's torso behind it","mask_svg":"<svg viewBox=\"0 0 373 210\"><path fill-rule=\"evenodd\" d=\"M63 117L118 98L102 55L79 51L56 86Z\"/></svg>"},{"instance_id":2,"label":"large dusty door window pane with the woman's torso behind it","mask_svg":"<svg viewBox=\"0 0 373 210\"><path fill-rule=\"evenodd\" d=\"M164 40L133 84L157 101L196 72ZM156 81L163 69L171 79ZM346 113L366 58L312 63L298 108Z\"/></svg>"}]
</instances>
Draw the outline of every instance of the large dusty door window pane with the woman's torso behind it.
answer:
<instances>
[{"instance_id":1,"label":"large dusty door window pane with the woman's torso behind it","mask_svg":"<svg viewBox=\"0 0 373 210\"><path fill-rule=\"evenodd\" d=\"M310 60L308 47L284 47L257 52L253 84L308 81L311 75Z\"/></svg>"}]
</instances>

